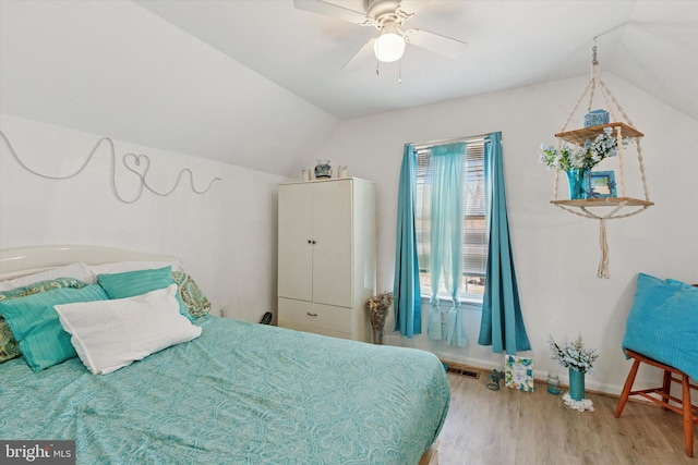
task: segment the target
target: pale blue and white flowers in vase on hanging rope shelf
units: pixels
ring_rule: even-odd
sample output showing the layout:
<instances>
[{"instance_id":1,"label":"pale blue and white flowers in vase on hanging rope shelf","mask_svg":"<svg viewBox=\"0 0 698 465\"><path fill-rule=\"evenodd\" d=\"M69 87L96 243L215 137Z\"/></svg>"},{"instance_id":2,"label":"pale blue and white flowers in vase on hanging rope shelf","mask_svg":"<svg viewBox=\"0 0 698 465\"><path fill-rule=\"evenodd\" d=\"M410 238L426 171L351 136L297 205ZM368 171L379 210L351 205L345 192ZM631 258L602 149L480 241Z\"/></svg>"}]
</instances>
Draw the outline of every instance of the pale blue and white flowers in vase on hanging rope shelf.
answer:
<instances>
[{"instance_id":1,"label":"pale blue and white flowers in vase on hanging rope shelf","mask_svg":"<svg viewBox=\"0 0 698 465\"><path fill-rule=\"evenodd\" d=\"M634 138L626 137L623 145L633 142ZM549 170L591 170L594 166L609 157L617 155L618 140L613 136L612 127L604 127L593 140L585 140L582 147L563 142L559 150L550 144L541 144L539 161L545 164Z\"/></svg>"}]
</instances>

